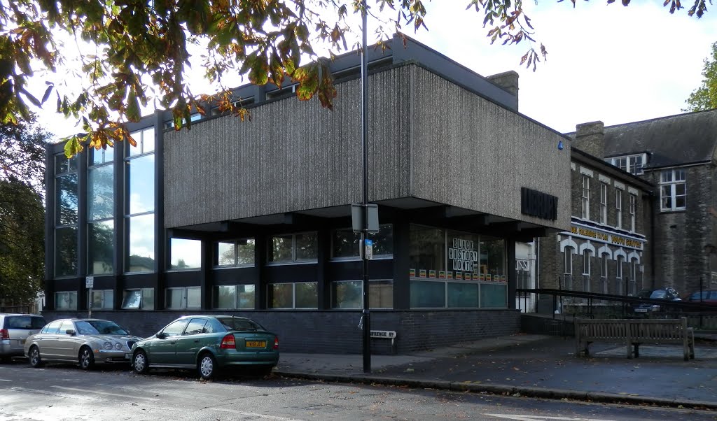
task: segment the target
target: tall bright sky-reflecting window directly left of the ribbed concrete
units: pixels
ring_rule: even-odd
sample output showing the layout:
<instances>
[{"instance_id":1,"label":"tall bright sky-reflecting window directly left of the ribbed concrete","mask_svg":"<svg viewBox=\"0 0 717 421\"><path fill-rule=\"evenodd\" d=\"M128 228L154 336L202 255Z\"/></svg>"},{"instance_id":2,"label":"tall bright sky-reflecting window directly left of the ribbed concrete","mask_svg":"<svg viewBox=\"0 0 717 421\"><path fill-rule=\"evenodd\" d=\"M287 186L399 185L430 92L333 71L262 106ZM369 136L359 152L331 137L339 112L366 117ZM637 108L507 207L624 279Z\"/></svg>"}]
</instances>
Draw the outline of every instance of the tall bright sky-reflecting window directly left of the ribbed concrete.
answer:
<instances>
[{"instance_id":1,"label":"tall bright sky-reflecting window directly left of the ribbed concrete","mask_svg":"<svg viewBox=\"0 0 717 421\"><path fill-rule=\"evenodd\" d=\"M154 271L154 127L132 132L137 146L128 145L125 200L126 272Z\"/></svg>"}]
</instances>

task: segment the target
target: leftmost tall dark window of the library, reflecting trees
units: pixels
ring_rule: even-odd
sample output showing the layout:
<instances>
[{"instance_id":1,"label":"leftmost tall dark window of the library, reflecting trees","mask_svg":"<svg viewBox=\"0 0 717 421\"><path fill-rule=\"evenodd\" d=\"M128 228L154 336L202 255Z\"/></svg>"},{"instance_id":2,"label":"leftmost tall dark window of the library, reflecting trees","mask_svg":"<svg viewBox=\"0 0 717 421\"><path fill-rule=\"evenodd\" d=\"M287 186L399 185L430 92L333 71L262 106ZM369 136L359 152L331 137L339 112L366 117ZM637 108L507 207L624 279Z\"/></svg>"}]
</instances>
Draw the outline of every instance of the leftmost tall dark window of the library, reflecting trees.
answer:
<instances>
[{"instance_id":1,"label":"leftmost tall dark window of the library, reflecting trees","mask_svg":"<svg viewBox=\"0 0 717 421\"><path fill-rule=\"evenodd\" d=\"M54 156L54 275L77 275L77 155Z\"/></svg>"}]
</instances>

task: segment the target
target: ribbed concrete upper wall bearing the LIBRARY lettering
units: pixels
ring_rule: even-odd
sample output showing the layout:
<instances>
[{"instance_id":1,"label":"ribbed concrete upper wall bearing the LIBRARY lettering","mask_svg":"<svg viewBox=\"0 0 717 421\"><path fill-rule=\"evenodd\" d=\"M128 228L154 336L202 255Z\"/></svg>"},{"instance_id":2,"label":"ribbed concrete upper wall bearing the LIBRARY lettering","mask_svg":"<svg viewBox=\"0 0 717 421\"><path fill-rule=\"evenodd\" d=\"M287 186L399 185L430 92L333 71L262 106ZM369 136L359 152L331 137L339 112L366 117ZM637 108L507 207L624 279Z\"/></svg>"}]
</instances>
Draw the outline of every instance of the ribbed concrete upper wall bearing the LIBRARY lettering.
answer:
<instances>
[{"instance_id":1,"label":"ribbed concrete upper wall bearing the LIBRARY lettering","mask_svg":"<svg viewBox=\"0 0 717 421\"><path fill-rule=\"evenodd\" d=\"M570 226L570 145L425 69L413 67L414 197L543 226ZM559 198L554 222L521 214L521 187Z\"/></svg>"}]
</instances>

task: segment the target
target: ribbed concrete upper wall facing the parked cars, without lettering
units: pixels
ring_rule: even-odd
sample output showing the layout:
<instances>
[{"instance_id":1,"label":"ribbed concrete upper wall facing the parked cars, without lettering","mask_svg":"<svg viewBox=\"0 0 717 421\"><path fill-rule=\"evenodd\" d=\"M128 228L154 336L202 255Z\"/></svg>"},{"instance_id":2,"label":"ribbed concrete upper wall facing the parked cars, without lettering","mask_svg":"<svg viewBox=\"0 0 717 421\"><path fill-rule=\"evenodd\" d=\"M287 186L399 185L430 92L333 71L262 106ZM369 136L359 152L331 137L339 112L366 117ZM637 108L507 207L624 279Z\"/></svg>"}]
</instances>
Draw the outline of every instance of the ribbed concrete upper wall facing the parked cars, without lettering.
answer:
<instances>
[{"instance_id":1,"label":"ribbed concrete upper wall facing the parked cars, without lettering","mask_svg":"<svg viewBox=\"0 0 717 421\"><path fill-rule=\"evenodd\" d=\"M369 200L408 194L409 67L369 82ZM361 201L361 85L334 110L295 97L164 134L165 226L189 226Z\"/></svg>"}]
</instances>

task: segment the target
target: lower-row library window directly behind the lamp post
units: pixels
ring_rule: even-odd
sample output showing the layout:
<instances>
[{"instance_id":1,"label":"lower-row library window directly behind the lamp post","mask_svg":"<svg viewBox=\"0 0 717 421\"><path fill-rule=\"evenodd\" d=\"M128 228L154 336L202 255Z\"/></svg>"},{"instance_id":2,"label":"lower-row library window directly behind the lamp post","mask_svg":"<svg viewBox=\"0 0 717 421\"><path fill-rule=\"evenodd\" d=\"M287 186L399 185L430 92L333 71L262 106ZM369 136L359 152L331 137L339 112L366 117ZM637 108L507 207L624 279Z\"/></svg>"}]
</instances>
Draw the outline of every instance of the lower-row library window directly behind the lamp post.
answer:
<instances>
[{"instance_id":1,"label":"lower-row library window directly behind the lamp post","mask_svg":"<svg viewBox=\"0 0 717 421\"><path fill-rule=\"evenodd\" d=\"M369 307L392 309L394 306L394 283L391 280L369 281ZM331 283L331 307L333 309L364 308L363 281L335 281Z\"/></svg>"}]
</instances>

